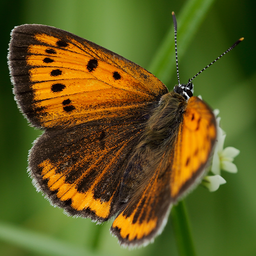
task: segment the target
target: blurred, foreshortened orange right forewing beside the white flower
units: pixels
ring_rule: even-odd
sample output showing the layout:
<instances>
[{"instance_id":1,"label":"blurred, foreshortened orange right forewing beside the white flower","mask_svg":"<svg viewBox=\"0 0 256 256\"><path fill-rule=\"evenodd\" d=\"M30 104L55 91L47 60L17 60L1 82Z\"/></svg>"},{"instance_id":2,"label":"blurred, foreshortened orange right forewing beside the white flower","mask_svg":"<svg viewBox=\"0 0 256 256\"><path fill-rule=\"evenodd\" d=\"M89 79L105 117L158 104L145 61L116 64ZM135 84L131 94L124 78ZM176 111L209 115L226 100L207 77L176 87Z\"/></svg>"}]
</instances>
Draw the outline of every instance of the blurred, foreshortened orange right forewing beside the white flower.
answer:
<instances>
[{"instance_id":1,"label":"blurred, foreshortened orange right forewing beside the white flower","mask_svg":"<svg viewBox=\"0 0 256 256\"><path fill-rule=\"evenodd\" d=\"M216 139L216 122L211 109L191 97L179 127L172 158L171 195L177 198L204 171Z\"/></svg>"}]
</instances>

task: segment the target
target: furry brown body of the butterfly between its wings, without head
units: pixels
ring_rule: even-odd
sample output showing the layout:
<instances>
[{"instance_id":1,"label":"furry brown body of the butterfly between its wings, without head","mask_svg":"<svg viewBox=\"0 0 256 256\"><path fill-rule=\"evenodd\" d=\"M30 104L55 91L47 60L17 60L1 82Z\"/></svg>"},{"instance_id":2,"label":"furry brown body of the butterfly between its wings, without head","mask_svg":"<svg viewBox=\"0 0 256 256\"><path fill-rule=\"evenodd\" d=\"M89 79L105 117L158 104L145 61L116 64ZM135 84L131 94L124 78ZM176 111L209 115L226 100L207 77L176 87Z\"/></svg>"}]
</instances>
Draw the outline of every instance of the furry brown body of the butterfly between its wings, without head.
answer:
<instances>
[{"instance_id":1,"label":"furry brown body of the butterfly between its wings, without head","mask_svg":"<svg viewBox=\"0 0 256 256\"><path fill-rule=\"evenodd\" d=\"M138 186L147 183L166 148L172 148L186 105L185 99L175 92L162 97L145 124L145 132L124 172L119 196L121 202L127 202Z\"/></svg>"}]
</instances>

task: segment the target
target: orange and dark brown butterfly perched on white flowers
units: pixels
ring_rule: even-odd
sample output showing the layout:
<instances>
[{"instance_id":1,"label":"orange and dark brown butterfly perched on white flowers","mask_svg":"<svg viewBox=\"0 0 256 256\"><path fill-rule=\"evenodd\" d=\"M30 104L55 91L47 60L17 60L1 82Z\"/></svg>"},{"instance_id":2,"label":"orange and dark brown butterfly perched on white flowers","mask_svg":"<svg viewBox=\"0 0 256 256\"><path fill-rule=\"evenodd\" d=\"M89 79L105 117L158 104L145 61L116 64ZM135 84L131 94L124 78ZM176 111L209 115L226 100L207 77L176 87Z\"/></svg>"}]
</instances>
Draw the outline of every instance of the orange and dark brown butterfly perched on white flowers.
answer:
<instances>
[{"instance_id":1,"label":"orange and dark brown butterfly perched on white flowers","mask_svg":"<svg viewBox=\"0 0 256 256\"><path fill-rule=\"evenodd\" d=\"M8 64L21 112L44 131L28 156L36 189L68 215L113 218L124 246L153 241L202 179L216 140L191 80L169 92L132 61L35 24L12 30Z\"/></svg>"}]
</instances>

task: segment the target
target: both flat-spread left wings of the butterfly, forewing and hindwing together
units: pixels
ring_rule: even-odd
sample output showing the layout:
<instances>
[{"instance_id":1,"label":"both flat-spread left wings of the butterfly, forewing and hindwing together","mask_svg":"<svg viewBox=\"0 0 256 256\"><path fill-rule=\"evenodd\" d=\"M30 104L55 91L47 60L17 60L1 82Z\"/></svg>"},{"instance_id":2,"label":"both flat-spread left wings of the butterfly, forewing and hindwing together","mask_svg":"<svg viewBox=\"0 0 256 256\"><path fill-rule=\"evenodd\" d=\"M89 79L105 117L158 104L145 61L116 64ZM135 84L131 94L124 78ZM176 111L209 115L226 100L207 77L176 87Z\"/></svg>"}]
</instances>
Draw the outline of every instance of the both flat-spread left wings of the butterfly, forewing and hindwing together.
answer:
<instances>
[{"instance_id":1,"label":"both flat-spread left wings of the butterfly, forewing and hindwing together","mask_svg":"<svg viewBox=\"0 0 256 256\"><path fill-rule=\"evenodd\" d=\"M45 130L29 155L33 183L70 215L109 219L142 125L167 88L116 53L44 25L14 28L8 60L16 101Z\"/></svg>"}]
</instances>

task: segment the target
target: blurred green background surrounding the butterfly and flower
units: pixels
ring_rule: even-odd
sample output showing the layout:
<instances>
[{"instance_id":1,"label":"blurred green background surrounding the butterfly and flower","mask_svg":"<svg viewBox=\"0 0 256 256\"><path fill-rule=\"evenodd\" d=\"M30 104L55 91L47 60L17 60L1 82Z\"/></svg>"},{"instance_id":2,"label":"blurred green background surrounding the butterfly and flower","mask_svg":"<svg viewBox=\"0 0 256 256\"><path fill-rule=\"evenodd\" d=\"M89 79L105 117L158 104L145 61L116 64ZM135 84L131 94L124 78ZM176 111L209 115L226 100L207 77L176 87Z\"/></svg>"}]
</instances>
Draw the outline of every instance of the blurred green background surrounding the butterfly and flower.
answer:
<instances>
[{"instance_id":1,"label":"blurred green background surrounding the butterfly and flower","mask_svg":"<svg viewBox=\"0 0 256 256\"><path fill-rule=\"evenodd\" d=\"M172 28L171 12L177 15L179 29L185 4L184 0L0 1L1 255L178 255L171 218L154 244L129 251L109 234L111 223L96 226L68 217L36 192L26 168L28 150L41 132L28 126L13 100L6 55L12 28L38 23L68 30L149 68ZM237 39L245 38L194 80L195 95L220 109L225 147L241 150L234 162L238 173L222 172L227 184L214 193L199 186L185 200L201 256L256 255L255 11L253 0L212 1L179 58L180 80L186 83ZM175 62L170 78L162 80L169 89L177 83L174 71Z\"/></svg>"}]
</instances>

